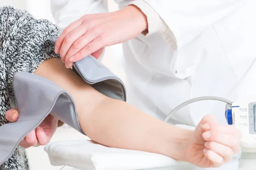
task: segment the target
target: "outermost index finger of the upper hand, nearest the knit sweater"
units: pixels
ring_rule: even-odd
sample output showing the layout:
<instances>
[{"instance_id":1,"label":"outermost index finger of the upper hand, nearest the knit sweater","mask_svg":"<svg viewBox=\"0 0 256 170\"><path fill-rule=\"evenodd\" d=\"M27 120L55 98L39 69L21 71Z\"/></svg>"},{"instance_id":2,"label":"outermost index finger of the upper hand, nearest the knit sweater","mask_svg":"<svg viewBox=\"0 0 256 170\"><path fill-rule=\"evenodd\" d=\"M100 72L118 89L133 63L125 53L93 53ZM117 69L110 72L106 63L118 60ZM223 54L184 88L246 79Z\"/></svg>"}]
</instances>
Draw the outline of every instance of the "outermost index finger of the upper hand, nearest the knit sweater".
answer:
<instances>
[{"instance_id":1,"label":"outermost index finger of the upper hand, nearest the knit sweater","mask_svg":"<svg viewBox=\"0 0 256 170\"><path fill-rule=\"evenodd\" d=\"M60 53L62 43L64 39L67 37L67 35L73 31L75 28L79 27L83 23L83 20L80 18L79 20L76 20L75 22L71 23L69 26L67 26L61 33L61 35L58 37L58 40L55 42L55 53Z\"/></svg>"}]
</instances>

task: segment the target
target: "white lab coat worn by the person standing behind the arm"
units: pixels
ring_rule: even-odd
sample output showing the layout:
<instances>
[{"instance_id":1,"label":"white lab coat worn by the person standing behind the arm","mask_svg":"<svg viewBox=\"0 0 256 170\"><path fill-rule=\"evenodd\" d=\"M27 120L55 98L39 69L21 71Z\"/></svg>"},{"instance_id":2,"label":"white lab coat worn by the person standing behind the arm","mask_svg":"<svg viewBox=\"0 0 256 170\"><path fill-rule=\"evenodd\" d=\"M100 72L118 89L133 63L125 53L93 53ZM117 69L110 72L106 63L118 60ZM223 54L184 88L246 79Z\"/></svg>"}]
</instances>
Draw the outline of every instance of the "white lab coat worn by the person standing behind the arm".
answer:
<instances>
[{"instance_id":1,"label":"white lab coat worn by the person standing behind the arm","mask_svg":"<svg viewBox=\"0 0 256 170\"><path fill-rule=\"evenodd\" d=\"M143 0L136 0L136 2ZM120 8L133 0L115 0ZM164 119L177 105L198 96L235 101L256 59L255 0L144 0L168 26L123 43L128 102ZM104 0L52 0L64 29L84 14L107 11ZM151 22L152 23L152 22ZM151 27L153 24L150 24ZM170 123L197 125L208 113L226 124L225 104L193 103Z\"/></svg>"}]
</instances>

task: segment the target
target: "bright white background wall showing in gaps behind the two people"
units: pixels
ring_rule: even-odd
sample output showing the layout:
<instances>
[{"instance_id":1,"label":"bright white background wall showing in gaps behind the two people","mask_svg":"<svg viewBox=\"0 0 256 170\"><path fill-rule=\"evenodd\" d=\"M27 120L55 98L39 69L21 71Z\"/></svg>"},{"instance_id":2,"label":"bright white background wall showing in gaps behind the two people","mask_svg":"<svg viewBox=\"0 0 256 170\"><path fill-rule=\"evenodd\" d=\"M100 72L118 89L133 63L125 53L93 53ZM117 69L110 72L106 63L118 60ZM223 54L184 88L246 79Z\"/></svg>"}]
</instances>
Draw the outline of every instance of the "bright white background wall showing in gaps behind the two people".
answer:
<instances>
[{"instance_id":1,"label":"bright white background wall showing in gaps behind the two people","mask_svg":"<svg viewBox=\"0 0 256 170\"><path fill-rule=\"evenodd\" d=\"M0 6L14 6L26 9L37 19L47 19L55 23L51 11L50 0L0 0ZM116 11L118 8L113 0L108 0L109 10ZM125 74L121 65L122 46L113 45L107 47L102 62L125 82ZM87 139L72 128L58 128L51 142L59 140ZM27 149L30 170L59 170L61 167L51 166L44 147L31 147Z\"/></svg>"}]
</instances>

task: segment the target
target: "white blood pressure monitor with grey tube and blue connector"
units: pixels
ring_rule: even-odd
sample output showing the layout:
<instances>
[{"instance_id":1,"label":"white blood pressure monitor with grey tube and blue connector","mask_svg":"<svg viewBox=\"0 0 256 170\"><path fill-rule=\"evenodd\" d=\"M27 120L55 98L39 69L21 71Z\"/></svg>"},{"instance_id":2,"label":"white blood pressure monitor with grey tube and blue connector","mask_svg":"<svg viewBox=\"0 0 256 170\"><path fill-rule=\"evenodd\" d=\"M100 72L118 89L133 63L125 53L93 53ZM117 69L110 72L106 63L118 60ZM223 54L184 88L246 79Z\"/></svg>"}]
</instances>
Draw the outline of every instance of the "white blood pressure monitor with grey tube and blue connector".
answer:
<instances>
[{"instance_id":1,"label":"white blood pressure monitor with grey tube and blue connector","mask_svg":"<svg viewBox=\"0 0 256 170\"><path fill-rule=\"evenodd\" d=\"M202 96L190 99L174 108L163 120L167 122L172 115L186 105L202 100L218 100L225 102L227 123L236 126L242 133L241 150L245 153L256 153L256 100L255 96L241 98L236 102L218 96Z\"/></svg>"}]
</instances>

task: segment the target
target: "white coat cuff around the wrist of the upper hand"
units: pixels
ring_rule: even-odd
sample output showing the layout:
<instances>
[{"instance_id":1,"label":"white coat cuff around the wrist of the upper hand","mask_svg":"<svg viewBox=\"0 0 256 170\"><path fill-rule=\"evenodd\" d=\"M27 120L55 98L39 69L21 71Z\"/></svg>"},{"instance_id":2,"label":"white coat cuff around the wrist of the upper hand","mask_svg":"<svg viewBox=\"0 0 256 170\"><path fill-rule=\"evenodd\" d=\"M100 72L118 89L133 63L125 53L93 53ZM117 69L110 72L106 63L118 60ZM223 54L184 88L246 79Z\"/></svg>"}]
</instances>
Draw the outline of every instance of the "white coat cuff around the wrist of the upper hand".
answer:
<instances>
[{"instance_id":1,"label":"white coat cuff around the wrist of the upper hand","mask_svg":"<svg viewBox=\"0 0 256 170\"><path fill-rule=\"evenodd\" d=\"M142 32L144 36L154 33L163 34L167 30L167 25L157 12L144 0L134 0L128 5L135 5L147 16L148 30Z\"/></svg>"}]
</instances>

